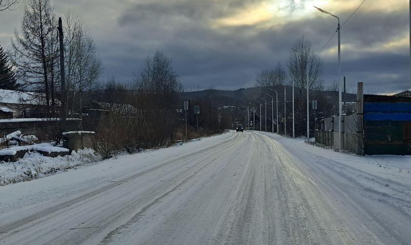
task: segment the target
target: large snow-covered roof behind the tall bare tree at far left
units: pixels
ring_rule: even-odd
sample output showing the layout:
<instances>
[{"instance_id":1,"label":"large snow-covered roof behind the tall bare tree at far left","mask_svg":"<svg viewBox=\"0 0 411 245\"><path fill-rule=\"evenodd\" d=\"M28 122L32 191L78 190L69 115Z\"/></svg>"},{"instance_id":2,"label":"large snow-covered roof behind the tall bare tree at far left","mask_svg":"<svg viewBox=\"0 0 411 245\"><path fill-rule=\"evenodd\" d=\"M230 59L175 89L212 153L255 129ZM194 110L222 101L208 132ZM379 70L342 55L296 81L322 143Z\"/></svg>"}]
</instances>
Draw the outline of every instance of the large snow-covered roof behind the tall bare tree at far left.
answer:
<instances>
[{"instance_id":1,"label":"large snow-covered roof behind the tall bare tree at far left","mask_svg":"<svg viewBox=\"0 0 411 245\"><path fill-rule=\"evenodd\" d=\"M22 92L0 89L0 103L23 105L46 105L45 96L37 92ZM58 101L57 104L60 102Z\"/></svg>"}]
</instances>

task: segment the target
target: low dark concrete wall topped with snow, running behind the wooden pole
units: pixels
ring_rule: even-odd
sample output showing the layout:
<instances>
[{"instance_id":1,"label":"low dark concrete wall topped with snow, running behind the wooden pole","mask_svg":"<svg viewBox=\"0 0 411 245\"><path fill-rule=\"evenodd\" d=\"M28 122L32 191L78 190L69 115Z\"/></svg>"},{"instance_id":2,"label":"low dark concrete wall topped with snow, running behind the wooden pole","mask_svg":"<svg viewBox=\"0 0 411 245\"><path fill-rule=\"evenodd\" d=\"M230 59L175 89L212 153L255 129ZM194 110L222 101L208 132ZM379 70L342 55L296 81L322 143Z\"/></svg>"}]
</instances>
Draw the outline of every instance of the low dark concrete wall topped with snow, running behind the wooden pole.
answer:
<instances>
[{"instance_id":1,"label":"low dark concrete wall topped with snow, running behind the wooden pole","mask_svg":"<svg viewBox=\"0 0 411 245\"><path fill-rule=\"evenodd\" d=\"M34 134L40 141L45 141L53 140L55 134L59 133L59 118L34 119L36 118L0 120L0 137L19 130L22 134ZM70 119L67 120L65 131L78 131L81 126L81 119Z\"/></svg>"}]
</instances>

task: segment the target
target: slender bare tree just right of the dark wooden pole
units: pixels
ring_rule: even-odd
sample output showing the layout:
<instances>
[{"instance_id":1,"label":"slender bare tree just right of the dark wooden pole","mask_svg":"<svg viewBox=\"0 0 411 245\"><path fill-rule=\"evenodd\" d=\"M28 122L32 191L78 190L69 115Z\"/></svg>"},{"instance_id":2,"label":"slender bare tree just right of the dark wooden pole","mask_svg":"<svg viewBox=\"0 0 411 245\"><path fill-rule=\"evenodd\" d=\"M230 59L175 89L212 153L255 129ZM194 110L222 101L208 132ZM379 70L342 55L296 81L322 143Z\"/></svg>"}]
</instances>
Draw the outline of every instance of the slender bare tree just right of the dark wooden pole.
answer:
<instances>
[{"instance_id":1,"label":"slender bare tree just right of the dark wooden pole","mask_svg":"<svg viewBox=\"0 0 411 245\"><path fill-rule=\"evenodd\" d=\"M65 56L68 101L71 113L80 112L84 93L95 88L102 72L93 38L80 16L68 10L65 16Z\"/></svg>"}]
</instances>

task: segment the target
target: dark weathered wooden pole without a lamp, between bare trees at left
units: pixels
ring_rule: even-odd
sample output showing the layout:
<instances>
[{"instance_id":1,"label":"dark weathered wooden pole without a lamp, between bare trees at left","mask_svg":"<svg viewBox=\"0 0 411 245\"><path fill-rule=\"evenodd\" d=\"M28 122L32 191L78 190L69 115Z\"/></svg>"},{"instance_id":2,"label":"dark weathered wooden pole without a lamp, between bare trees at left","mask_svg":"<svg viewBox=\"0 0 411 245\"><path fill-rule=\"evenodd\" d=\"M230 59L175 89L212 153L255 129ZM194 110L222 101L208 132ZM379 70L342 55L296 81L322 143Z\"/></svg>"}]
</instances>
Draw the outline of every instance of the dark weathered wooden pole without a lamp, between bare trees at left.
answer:
<instances>
[{"instance_id":1,"label":"dark weathered wooden pole without a lamp, between bare trees at left","mask_svg":"<svg viewBox=\"0 0 411 245\"><path fill-rule=\"evenodd\" d=\"M58 18L58 41L60 44L60 82L61 82L61 130L66 130L66 72L64 70L64 43L63 43L63 21Z\"/></svg>"}]
</instances>

